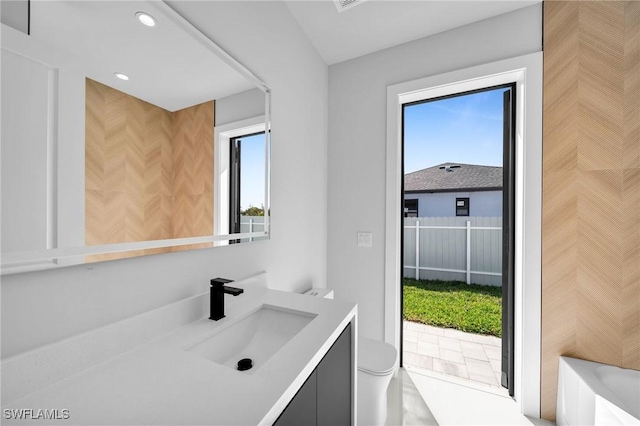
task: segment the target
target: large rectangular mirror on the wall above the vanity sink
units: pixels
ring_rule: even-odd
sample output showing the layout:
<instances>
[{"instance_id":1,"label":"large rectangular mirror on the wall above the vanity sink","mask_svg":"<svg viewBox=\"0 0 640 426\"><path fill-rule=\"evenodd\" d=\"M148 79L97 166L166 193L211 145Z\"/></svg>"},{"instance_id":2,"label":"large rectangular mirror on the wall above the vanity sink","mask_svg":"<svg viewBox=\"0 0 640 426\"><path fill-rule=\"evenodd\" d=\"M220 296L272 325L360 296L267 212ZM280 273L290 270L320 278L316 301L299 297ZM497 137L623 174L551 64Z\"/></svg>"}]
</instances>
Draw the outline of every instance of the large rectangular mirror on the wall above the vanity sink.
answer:
<instances>
[{"instance_id":1,"label":"large rectangular mirror on the wall above the vanity sink","mask_svg":"<svg viewBox=\"0 0 640 426\"><path fill-rule=\"evenodd\" d=\"M2 273L269 237L264 83L161 1L29 9L2 17Z\"/></svg>"}]
</instances>

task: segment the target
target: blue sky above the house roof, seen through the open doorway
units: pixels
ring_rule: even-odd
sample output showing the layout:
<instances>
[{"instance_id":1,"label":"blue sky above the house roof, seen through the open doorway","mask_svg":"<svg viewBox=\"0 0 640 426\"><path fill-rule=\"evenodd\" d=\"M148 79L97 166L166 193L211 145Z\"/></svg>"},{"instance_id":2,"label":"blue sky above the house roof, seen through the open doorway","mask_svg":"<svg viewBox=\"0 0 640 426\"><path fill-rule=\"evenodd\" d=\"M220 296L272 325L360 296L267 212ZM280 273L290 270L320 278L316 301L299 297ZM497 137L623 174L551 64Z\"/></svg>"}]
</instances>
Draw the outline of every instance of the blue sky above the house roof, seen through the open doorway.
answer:
<instances>
[{"instance_id":1,"label":"blue sky above the house roof, seen through the open doorway","mask_svg":"<svg viewBox=\"0 0 640 426\"><path fill-rule=\"evenodd\" d=\"M505 90L405 107L405 173L446 162L502 166Z\"/></svg>"}]
</instances>

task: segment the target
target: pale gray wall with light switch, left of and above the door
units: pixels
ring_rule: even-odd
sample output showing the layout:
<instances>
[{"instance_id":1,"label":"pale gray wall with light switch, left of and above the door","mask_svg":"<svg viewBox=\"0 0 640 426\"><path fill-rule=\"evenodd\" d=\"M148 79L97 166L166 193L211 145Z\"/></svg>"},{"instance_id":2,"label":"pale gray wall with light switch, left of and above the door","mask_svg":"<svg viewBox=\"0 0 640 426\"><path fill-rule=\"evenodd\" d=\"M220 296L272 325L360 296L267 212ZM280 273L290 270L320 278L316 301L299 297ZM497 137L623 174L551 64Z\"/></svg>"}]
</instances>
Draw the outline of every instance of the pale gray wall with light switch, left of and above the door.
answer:
<instances>
[{"instance_id":1,"label":"pale gray wall with light switch, left of and above the door","mask_svg":"<svg viewBox=\"0 0 640 426\"><path fill-rule=\"evenodd\" d=\"M384 339L387 86L541 50L535 5L329 67L328 287ZM356 232L373 233L358 248Z\"/></svg>"}]
</instances>

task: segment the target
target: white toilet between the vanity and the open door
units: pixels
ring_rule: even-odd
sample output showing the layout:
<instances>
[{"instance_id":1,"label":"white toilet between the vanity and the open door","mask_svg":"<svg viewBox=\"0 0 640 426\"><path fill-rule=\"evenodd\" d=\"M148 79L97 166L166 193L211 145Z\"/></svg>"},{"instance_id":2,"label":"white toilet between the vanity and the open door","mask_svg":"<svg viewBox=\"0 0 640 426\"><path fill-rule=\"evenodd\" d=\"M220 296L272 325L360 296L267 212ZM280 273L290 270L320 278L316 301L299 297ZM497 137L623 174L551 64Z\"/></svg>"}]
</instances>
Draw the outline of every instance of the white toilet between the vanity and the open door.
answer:
<instances>
[{"instance_id":1,"label":"white toilet between the vanity and the open door","mask_svg":"<svg viewBox=\"0 0 640 426\"><path fill-rule=\"evenodd\" d=\"M388 343L358 338L358 424L382 426L387 419L387 388L398 359Z\"/></svg>"}]
</instances>

